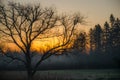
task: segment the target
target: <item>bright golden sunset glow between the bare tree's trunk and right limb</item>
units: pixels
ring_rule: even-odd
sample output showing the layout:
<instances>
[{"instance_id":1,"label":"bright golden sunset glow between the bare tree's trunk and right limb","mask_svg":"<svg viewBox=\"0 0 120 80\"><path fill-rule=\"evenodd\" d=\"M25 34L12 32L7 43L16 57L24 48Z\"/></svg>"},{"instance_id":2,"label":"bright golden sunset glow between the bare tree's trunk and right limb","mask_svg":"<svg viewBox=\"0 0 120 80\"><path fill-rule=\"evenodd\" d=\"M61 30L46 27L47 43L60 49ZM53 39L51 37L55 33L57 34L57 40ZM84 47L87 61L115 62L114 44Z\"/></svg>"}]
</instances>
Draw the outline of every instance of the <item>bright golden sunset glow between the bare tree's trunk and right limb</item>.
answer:
<instances>
[{"instance_id":1,"label":"bright golden sunset glow between the bare tree's trunk and right limb","mask_svg":"<svg viewBox=\"0 0 120 80\"><path fill-rule=\"evenodd\" d=\"M33 51L37 51L37 52L43 53L44 51L47 51L50 48L53 48L57 44L59 44L59 40L58 40L57 37L38 39L38 40L35 40L32 43L32 48L31 49Z\"/></svg>"}]
</instances>

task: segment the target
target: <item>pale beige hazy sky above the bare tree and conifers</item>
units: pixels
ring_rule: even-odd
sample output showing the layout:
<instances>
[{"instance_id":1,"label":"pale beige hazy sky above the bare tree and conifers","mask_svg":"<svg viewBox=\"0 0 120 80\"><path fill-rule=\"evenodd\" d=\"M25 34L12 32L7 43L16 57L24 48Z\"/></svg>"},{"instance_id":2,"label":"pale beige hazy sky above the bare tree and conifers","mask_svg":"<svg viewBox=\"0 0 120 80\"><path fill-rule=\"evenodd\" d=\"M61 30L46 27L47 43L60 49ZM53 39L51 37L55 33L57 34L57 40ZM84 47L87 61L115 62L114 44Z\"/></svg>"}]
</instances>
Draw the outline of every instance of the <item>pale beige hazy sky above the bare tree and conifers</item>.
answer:
<instances>
[{"instance_id":1,"label":"pale beige hazy sky above the bare tree and conifers","mask_svg":"<svg viewBox=\"0 0 120 80\"><path fill-rule=\"evenodd\" d=\"M12 0L8 0L12 1ZM22 3L41 3L42 6L55 6L58 12L81 12L88 17L89 26L103 24L113 13L120 18L120 0L13 0Z\"/></svg>"}]
</instances>

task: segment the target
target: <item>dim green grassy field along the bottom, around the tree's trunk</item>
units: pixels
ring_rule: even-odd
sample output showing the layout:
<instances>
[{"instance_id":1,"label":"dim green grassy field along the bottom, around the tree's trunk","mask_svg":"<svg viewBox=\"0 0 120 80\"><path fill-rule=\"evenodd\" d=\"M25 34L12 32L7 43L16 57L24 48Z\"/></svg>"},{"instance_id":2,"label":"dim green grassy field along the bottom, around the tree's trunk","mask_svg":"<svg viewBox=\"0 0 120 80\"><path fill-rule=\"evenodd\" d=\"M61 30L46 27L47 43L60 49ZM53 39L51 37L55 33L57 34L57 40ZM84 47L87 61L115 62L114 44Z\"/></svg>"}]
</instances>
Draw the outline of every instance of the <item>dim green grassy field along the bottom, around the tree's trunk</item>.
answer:
<instances>
[{"instance_id":1,"label":"dim green grassy field along the bottom, around the tree's trunk","mask_svg":"<svg viewBox=\"0 0 120 80\"><path fill-rule=\"evenodd\" d=\"M1 71L0 80L26 80L25 71ZM34 80L120 80L120 70L46 70L38 71Z\"/></svg>"}]
</instances>

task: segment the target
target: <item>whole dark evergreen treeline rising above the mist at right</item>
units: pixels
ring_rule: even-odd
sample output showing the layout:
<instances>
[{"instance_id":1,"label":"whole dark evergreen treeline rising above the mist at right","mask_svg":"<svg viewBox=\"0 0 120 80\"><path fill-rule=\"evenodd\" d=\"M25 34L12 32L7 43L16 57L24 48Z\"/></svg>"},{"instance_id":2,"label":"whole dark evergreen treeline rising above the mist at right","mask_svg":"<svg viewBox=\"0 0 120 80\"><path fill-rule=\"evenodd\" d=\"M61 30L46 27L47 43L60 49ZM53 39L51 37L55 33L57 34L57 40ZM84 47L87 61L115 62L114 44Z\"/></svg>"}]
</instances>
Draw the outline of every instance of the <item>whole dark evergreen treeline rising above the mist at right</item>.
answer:
<instances>
[{"instance_id":1,"label":"whole dark evergreen treeline rising above the mist at right","mask_svg":"<svg viewBox=\"0 0 120 80\"><path fill-rule=\"evenodd\" d=\"M104 26L100 24L89 30L89 34L85 32L77 35L74 47L81 51L86 51L89 45L90 52L97 53L120 53L120 20L110 15L109 22L105 22Z\"/></svg>"}]
</instances>

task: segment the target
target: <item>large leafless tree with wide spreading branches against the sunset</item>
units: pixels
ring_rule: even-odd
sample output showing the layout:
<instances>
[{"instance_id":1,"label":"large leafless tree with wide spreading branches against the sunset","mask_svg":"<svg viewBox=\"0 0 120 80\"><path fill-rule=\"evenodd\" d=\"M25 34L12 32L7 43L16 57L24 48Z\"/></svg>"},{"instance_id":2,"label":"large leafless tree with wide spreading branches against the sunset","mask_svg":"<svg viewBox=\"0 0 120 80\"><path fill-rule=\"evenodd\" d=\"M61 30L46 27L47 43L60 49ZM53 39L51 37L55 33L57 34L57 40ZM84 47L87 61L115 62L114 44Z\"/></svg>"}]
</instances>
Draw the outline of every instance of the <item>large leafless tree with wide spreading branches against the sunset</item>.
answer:
<instances>
[{"instance_id":1,"label":"large leafless tree with wide spreading branches against the sunset","mask_svg":"<svg viewBox=\"0 0 120 80\"><path fill-rule=\"evenodd\" d=\"M16 44L25 55L22 61L27 69L28 80L36 73L41 62L59 51L67 49L70 44L73 32L78 23L82 23L84 17L81 15L57 16L53 8L42 8L40 5L24 6L17 3L9 3L0 6L0 32L4 39ZM60 33L45 36L55 27L62 28ZM31 46L36 39L57 36L61 40L60 44L45 51L35 66L32 66Z\"/></svg>"}]
</instances>

